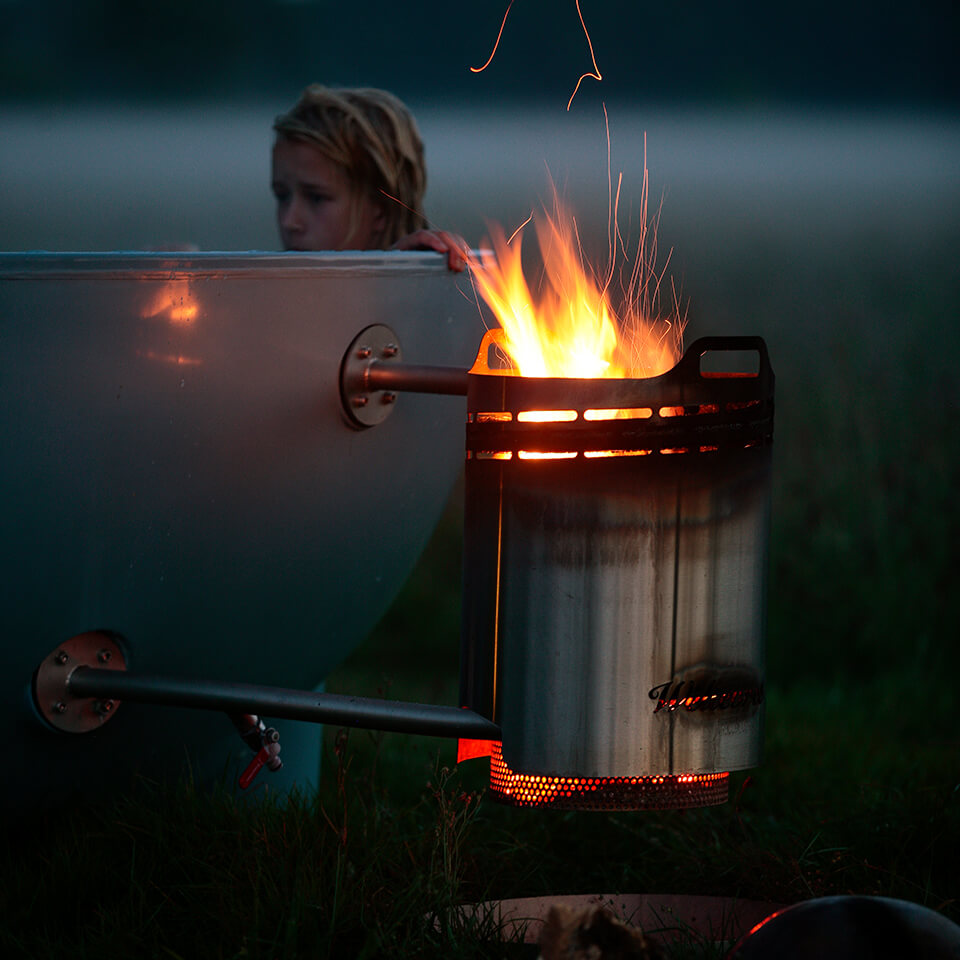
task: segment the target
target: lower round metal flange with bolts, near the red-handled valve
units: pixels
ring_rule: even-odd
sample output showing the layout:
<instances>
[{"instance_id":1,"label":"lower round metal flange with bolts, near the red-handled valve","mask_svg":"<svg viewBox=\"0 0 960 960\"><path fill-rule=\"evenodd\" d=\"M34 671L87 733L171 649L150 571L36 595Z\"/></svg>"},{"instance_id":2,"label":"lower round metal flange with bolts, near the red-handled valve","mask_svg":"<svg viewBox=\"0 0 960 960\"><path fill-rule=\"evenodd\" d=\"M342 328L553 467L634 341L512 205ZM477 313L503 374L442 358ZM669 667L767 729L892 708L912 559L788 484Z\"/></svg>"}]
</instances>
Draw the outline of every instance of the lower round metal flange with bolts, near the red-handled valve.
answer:
<instances>
[{"instance_id":1,"label":"lower round metal flange with bolts, near the red-handled valve","mask_svg":"<svg viewBox=\"0 0 960 960\"><path fill-rule=\"evenodd\" d=\"M70 675L77 667L126 670L119 634L106 630L79 633L44 658L33 678L33 696L44 719L66 733L88 733L102 727L120 706L119 700L77 697Z\"/></svg>"}]
</instances>

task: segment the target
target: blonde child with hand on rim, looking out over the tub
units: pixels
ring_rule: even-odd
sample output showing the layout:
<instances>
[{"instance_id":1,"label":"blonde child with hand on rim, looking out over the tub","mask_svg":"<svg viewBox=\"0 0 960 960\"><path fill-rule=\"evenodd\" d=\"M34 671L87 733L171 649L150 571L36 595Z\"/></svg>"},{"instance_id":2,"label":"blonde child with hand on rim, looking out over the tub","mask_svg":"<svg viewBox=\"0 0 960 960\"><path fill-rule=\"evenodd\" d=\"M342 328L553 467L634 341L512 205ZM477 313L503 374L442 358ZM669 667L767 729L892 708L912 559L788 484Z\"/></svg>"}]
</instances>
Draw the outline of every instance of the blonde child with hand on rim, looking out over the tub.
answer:
<instances>
[{"instance_id":1,"label":"blonde child with hand on rim, looking out over the tub","mask_svg":"<svg viewBox=\"0 0 960 960\"><path fill-rule=\"evenodd\" d=\"M285 250L437 250L463 270L465 242L425 228L423 142L393 94L313 84L273 129Z\"/></svg>"}]
</instances>

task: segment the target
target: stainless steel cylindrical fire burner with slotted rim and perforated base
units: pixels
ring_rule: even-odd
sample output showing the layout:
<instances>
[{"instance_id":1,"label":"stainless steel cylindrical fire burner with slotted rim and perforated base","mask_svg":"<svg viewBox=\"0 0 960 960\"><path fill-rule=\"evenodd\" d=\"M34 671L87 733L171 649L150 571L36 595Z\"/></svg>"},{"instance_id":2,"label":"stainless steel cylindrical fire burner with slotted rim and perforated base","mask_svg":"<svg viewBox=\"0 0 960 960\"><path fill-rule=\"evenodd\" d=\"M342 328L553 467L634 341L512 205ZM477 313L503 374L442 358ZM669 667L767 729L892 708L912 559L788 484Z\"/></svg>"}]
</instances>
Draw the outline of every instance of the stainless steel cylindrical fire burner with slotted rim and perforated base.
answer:
<instances>
[{"instance_id":1,"label":"stainless steel cylindrical fire burner with slotted rim and perforated base","mask_svg":"<svg viewBox=\"0 0 960 960\"><path fill-rule=\"evenodd\" d=\"M471 374L462 702L502 799L721 802L758 762L772 395L756 338L650 380Z\"/></svg>"}]
</instances>

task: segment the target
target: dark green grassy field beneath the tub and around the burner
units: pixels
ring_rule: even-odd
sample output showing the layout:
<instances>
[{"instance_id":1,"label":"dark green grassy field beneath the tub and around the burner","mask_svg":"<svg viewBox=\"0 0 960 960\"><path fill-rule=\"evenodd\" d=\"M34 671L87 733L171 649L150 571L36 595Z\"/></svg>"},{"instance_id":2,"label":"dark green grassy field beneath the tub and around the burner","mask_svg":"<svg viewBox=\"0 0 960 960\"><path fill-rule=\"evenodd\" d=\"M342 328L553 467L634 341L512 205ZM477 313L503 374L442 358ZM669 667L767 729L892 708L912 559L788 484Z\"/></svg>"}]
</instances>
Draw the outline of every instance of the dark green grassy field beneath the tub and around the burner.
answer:
<instances>
[{"instance_id":1,"label":"dark green grassy field beneath the tub and around the burner","mask_svg":"<svg viewBox=\"0 0 960 960\"><path fill-rule=\"evenodd\" d=\"M762 333L778 377L766 758L728 804L510 810L450 743L331 729L315 797L140 781L8 831L0 952L531 957L453 908L567 893L879 894L960 920L958 248L787 278L771 249L702 294L694 332ZM731 319L744 303L755 322ZM455 702L459 509L328 689ZM671 956L721 953L690 934Z\"/></svg>"}]
</instances>

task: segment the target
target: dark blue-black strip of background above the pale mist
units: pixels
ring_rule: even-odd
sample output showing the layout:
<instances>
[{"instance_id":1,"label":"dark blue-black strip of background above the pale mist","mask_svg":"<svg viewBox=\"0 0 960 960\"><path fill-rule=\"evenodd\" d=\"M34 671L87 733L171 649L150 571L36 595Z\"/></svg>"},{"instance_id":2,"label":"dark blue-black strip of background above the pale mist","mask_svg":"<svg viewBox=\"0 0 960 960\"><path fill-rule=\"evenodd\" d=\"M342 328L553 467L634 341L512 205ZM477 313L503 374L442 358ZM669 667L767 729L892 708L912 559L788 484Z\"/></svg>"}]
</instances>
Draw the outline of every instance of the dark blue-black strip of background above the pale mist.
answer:
<instances>
[{"instance_id":1,"label":"dark blue-black strip of background above the pale mist","mask_svg":"<svg viewBox=\"0 0 960 960\"><path fill-rule=\"evenodd\" d=\"M558 99L592 68L575 0L0 0L0 98L209 99L371 84L471 104ZM956 4L581 0L584 98L953 106Z\"/></svg>"}]
</instances>

